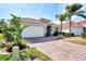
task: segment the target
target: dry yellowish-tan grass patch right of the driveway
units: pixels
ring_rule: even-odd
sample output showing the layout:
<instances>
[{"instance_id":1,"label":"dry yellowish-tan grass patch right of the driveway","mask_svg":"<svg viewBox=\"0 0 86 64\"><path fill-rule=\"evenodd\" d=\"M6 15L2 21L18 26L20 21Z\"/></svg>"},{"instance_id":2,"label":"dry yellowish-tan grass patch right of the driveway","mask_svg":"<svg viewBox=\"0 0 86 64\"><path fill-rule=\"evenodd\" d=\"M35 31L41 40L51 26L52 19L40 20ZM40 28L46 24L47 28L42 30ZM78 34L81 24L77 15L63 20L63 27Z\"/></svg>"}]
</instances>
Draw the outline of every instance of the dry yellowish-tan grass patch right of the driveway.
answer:
<instances>
[{"instance_id":1,"label":"dry yellowish-tan grass patch right of the driveway","mask_svg":"<svg viewBox=\"0 0 86 64\"><path fill-rule=\"evenodd\" d=\"M65 41L72 42L72 43L78 43L86 46L86 39L83 39L81 37L74 37L74 38L65 38Z\"/></svg>"}]
</instances>

